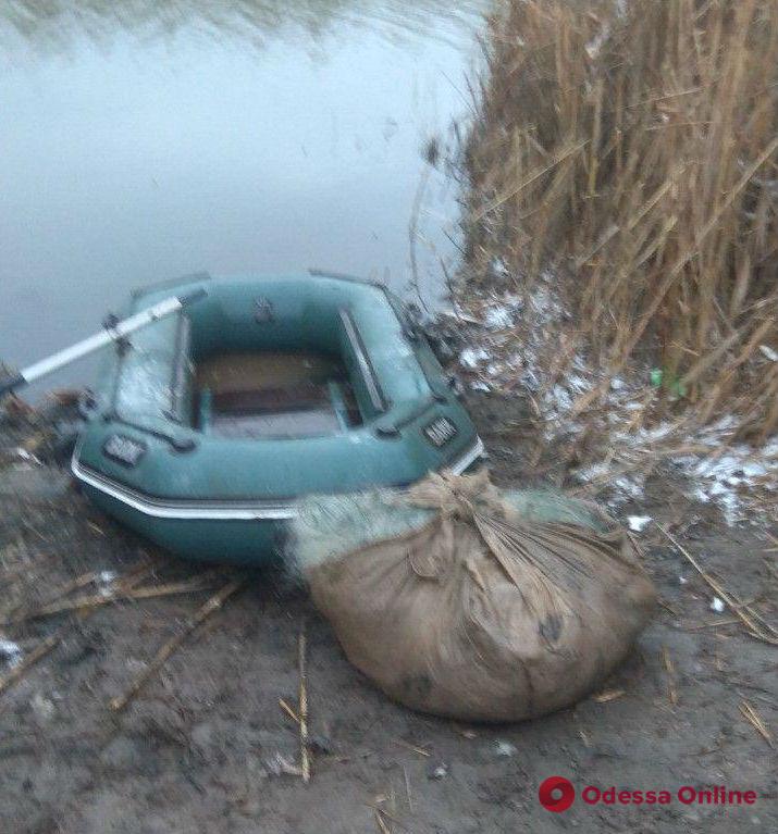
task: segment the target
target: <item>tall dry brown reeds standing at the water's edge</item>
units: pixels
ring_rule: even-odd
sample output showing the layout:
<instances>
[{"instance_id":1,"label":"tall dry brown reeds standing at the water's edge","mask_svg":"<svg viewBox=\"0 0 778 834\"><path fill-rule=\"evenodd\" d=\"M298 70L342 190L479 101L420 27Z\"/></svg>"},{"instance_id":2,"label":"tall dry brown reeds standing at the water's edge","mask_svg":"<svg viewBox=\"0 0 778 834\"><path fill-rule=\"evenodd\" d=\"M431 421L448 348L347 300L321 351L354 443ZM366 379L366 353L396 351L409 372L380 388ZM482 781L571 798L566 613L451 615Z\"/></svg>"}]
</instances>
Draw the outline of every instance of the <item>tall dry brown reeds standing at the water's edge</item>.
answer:
<instances>
[{"instance_id":1,"label":"tall dry brown reeds standing at the water's edge","mask_svg":"<svg viewBox=\"0 0 778 834\"><path fill-rule=\"evenodd\" d=\"M651 357L702 421L770 435L778 1L506 0L490 34L474 274L551 267L604 366Z\"/></svg>"}]
</instances>

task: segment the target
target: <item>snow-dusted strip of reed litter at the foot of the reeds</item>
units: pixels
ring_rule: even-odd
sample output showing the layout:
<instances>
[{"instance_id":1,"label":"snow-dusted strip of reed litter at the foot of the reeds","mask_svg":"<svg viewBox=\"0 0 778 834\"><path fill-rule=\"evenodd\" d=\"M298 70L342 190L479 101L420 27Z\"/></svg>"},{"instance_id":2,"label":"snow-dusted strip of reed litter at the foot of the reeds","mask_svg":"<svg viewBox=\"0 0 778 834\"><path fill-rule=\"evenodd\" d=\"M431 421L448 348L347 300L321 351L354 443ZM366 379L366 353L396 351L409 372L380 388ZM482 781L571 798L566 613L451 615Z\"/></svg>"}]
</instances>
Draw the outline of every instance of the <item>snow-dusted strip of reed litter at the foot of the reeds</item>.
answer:
<instances>
[{"instance_id":1,"label":"snow-dusted strip of reed litter at the foot of the reeds","mask_svg":"<svg viewBox=\"0 0 778 834\"><path fill-rule=\"evenodd\" d=\"M755 497L778 499L778 437L760 449L732 444L731 415L702 427L691 418L652 424L657 391L649 385L650 369L607 379L566 337L571 316L552 285L553 276L544 275L523 295L481 297L457 309L470 340L459 363L471 388L521 391L549 443L572 439L593 424L602 435L602 456L577 476L606 486L614 508L641 499L652 459L684 475L690 497L719 507L729 524L758 509ZM593 412L581 398L602 386L607 386L606 407Z\"/></svg>"}]
</instances>

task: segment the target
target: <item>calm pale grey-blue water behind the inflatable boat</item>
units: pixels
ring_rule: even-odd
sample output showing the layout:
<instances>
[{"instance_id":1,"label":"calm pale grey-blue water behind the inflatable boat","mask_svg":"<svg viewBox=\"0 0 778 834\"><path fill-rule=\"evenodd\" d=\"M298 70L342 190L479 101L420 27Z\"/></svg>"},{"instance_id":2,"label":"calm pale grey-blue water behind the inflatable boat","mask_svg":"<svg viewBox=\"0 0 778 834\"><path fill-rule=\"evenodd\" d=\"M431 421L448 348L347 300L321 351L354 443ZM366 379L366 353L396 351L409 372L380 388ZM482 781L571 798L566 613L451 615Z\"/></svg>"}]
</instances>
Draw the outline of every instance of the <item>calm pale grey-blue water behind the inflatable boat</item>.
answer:
<instances>
[{"instance_id":1,"label":"calm pale grey-blue water behind the inflatable boat","mask_svg":"<svg viewBox=\"0 0 778 834\"><path fill-rule=\"evenodd\" d=\"M402 290L422 181L434 303L457 187L423 173L421 148L467 116L485 0L226 7L0 7L0 359L23 366L132 287L199 270L319 266Z\"/></svg>"}]
</instances>

